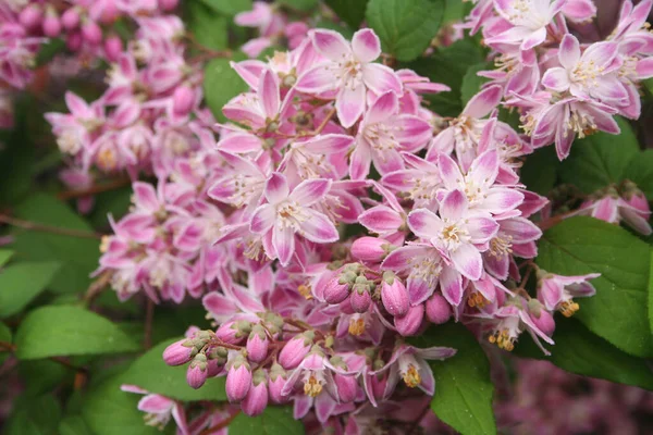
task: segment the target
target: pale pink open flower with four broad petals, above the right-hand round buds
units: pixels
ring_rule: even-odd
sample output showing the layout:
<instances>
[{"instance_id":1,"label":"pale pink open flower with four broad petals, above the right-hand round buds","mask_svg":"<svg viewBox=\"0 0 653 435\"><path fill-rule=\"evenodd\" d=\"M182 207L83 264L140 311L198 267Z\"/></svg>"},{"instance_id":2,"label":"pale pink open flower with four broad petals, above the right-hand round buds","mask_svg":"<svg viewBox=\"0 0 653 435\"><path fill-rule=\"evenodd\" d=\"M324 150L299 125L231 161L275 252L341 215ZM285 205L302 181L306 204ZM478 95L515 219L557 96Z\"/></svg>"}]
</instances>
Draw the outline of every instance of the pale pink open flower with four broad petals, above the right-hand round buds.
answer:
<instances>
[{"instance_id":1,"label":"pale pink open flower with four broad petals, above the right-hand round buds","mask_svg":"<svg viewBox=\"0 0 653 435\"><path fill-rule=\"evenodd\" d=\"M408 226L418 237L429 240L454 268L469 279L479 279L483 271L481 251L498 231L486 212L472 211L463 191L452 190L440 206L440 216L427 209L408 215Z\"/></svg>"}]
</instances>

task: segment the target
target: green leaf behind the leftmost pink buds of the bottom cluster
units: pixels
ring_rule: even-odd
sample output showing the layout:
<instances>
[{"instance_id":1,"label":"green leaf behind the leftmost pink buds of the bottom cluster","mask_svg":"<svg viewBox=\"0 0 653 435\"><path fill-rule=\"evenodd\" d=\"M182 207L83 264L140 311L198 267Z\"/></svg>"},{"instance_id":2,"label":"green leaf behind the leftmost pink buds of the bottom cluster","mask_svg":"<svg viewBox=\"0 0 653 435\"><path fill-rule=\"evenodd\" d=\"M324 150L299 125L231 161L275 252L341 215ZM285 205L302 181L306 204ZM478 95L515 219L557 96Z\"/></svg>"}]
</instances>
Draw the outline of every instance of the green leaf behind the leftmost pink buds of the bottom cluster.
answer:
<instances>
[{"instance_id":1,"label":"green leaf behind the leftmost pink buds of the bottom cluster","mask_svg":"<svg viewBox=\"0 0 653 435\"><path fill-rule=\"evenodd\" d=\"M178 400L225 400L224 377L207 380L201 388L193 389L186 383L186 366L165 364L163 350L180 339L165 340L148 350L132 363L123 382Z\"/></svg>"}]
</instances>

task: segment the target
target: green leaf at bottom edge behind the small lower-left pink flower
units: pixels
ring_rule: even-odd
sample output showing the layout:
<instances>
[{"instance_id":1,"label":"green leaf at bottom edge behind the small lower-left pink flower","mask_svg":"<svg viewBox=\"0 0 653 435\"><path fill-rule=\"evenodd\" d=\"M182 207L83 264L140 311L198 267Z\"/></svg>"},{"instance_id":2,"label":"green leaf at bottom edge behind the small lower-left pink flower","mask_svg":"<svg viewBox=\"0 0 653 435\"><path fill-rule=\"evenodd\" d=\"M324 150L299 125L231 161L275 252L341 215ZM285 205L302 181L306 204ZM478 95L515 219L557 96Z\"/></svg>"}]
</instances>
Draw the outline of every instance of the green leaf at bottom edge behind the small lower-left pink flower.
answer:
<instances>
[{"instance_id":1,"label":"green leaf at bottom edge behind the small lower-left pink flower","mask_svg":"<svg viewBox=\"0 0 653 435\"><path fill-rule=\"evenodd\" d=\"M145 413L136 407L143 396L120 389L121 375L93 387L82 405L82 415L95 435L161 435L145 425ZM172 424L172 423L171 423Z\"/></svg>"}]
</instances>

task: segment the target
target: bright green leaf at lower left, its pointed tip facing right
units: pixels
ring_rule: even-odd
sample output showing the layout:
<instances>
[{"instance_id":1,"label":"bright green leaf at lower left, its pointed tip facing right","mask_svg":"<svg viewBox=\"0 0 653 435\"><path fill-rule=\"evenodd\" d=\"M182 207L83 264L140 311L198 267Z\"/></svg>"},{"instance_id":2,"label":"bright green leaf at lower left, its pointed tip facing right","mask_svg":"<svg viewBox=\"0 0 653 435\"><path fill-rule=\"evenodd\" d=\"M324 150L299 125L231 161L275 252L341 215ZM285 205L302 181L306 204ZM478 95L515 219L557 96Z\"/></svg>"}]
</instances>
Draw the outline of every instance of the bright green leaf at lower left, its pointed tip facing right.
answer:
<instances>
[{"instance_id":1,"label":"bright green leaf at lower left, its pointed tip facing right","mask_svg":"<svg viewBox=\"0 0 653 435\"><path fill-rule=\"evenodd\" d=\"M27 314L16 332L16 356L22 360L122 353L139 346L107 319L76 307L42 307Z\"/></svg>"}]
</instances>

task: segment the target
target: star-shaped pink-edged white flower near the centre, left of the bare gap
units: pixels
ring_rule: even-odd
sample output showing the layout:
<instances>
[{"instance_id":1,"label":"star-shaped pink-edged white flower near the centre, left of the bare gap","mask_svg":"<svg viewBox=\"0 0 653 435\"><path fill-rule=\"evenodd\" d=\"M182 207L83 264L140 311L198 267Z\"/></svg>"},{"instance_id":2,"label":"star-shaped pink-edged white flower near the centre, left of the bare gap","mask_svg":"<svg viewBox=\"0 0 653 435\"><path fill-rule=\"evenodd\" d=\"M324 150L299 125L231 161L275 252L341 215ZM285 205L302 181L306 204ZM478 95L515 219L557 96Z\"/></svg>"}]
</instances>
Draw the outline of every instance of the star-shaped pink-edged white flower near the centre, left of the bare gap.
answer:
<instances>
[{"instance_id":1,"label":"star-shaped pink-edged white flower near the centre, left of the bare gap","mask_svg":"<svg viewBox=\"0 0 653 435\"><path fill-rule=\"evenodd\" d=\"M295 234L317 244L340 238L333 222L310 208L324 198L330 187L330 179L318 178L301 182L291 191L284 175L275 172L268 178L268 203L255 210L249 228L263 236L269 258L287 265L295 252Z\"/></svg>"}]
</instances>

